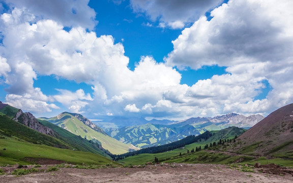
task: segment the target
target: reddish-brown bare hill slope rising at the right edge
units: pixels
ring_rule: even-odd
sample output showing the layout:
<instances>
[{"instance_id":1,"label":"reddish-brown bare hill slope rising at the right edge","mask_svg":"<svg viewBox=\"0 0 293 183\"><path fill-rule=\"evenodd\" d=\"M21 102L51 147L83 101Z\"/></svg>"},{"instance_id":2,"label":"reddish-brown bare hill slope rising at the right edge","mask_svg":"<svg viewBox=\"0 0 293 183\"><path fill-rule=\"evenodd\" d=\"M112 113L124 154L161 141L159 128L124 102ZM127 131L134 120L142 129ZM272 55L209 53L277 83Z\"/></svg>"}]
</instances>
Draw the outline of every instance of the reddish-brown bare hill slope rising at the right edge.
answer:
<instances>
[{"instance_id":1,"label":"reddish-brown bare hill slope rising at the right edge","mask_svg":"<svg viewBox=\"0 0 293 183\"><path fill-rule=\"evenodd\" d=\"M247 150L249 149L249 150ZM229 151L293 158L293 104L272 112L237 138Z\"/></svg>"}]
</instances>

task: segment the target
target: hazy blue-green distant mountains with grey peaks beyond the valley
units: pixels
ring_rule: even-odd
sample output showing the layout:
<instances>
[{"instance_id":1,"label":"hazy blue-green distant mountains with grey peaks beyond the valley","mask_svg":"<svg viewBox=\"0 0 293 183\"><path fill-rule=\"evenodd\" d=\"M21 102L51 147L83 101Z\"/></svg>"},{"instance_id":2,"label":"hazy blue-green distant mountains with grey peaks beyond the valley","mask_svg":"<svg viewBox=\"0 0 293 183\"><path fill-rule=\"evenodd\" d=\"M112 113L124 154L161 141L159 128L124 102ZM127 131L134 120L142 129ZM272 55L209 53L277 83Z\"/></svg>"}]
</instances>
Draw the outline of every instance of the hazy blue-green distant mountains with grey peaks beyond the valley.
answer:
<instances>
[{"instance_id":1,"label":"hazy blue-green distant mountains with grey peaks beyond the valley","mask_svg":"<svg viewBox=\"0 0 293 183\"><path fill-rule=\"evenodd\" d=\"M181 140L189 135L199 135L207 130L221 130L230 126L251 127L261 119L263 119L261 115L246 117L235 113L216 117L192 117L182 121L154 119L152 121L166 125L148 123L122 128L107 128L105 132L119 141L144 148ZM124 121L124 123L127 122Z\"/></svg>"}]
</instances>

